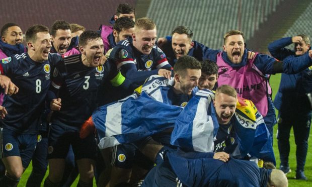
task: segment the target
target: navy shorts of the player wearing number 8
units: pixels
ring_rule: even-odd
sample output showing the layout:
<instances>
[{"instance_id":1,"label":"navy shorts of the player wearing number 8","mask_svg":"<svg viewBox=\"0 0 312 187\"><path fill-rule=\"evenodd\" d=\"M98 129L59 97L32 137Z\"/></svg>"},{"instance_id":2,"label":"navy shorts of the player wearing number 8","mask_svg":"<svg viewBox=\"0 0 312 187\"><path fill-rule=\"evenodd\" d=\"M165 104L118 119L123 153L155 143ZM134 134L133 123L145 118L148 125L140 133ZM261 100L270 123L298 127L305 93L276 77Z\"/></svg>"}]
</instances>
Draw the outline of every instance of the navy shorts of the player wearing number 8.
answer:
<instances>
[{"instance_id":1,"label":"navy shorts of the player wearing number 8","mask_svg":"<svg viewBox=\"0 0 312 187\"><path fill-rule=\"evenodd\" d=\"M1 128L0 153L1 158L20 156L24 168L27 168L37 145L37 134L22 134L13 130Z\"/></svg>"}]
</instances>

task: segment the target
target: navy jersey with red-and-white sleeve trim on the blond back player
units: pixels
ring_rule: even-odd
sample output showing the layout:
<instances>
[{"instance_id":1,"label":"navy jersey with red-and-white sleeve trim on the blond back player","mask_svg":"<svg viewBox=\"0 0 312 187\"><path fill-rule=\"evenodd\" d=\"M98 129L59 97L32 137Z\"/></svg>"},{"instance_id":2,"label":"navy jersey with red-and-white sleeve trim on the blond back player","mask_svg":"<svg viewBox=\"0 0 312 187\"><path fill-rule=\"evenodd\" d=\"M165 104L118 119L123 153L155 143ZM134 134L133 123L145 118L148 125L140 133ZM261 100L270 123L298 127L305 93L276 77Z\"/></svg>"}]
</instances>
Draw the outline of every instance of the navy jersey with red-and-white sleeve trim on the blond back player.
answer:
<instances>
[{"instance_id":1,"label":"navy jersey with red-and-white sleeve trim on the blond back player","mask_svg":"<svg viewBox=\"0 0 312 187\"><path fill-rule=\"evenodd\" d=\"M133 46L132 38L120 41L113 48L109 58L130 82L138 86L150 75L158 74L158 69L172 68L160 48L154 45L150 54L142 54Z\"/></svg>"}]
</instances>

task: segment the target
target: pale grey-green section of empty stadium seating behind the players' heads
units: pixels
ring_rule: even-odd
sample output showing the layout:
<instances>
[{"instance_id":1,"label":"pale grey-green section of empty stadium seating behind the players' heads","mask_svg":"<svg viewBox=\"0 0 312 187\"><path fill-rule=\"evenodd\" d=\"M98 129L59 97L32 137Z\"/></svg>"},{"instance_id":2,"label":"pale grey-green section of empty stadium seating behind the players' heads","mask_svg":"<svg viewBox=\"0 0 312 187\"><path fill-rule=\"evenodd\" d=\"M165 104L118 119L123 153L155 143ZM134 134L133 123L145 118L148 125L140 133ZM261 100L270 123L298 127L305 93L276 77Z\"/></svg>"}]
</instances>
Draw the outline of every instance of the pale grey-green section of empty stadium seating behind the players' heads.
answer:
<instances>
[{"instance_id":1,"label":"pale grey-green section of empty stadium seating behind the players' heads","mask_svg":"<svg viewBox=\"0 0 312 187\"><path fill-rule=\"evenodd\" d=\"M147 17L157 23L158 36L170 35L174 27L185 25L193 31L194 40L217 49L228 30L242 30L246 40L251 38L282 1L152 0Z\"/></svg>"}]
</instances>

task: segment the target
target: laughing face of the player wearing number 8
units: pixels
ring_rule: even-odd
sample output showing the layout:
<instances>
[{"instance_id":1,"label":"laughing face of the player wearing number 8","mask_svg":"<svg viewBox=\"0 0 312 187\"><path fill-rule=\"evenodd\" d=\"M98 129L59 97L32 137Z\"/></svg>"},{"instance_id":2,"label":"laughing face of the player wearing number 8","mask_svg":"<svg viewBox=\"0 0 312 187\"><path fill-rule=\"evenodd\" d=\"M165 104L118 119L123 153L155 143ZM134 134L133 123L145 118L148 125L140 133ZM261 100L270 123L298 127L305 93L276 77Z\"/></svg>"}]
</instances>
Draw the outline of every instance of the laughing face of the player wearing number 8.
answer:
<instances>
[{"instance_id":1,"label":"laughing face of the player wearing number 8","mask_svg":"<svg viewBox=\"0 0 312 187\"><path fill-rule=\"evenodd\" d=\"M36 62L48 60L49 52L52 47L51 36L47 32L38 32L35 41L28 42L29 56Z\"/></svg>"}]
</instances>

